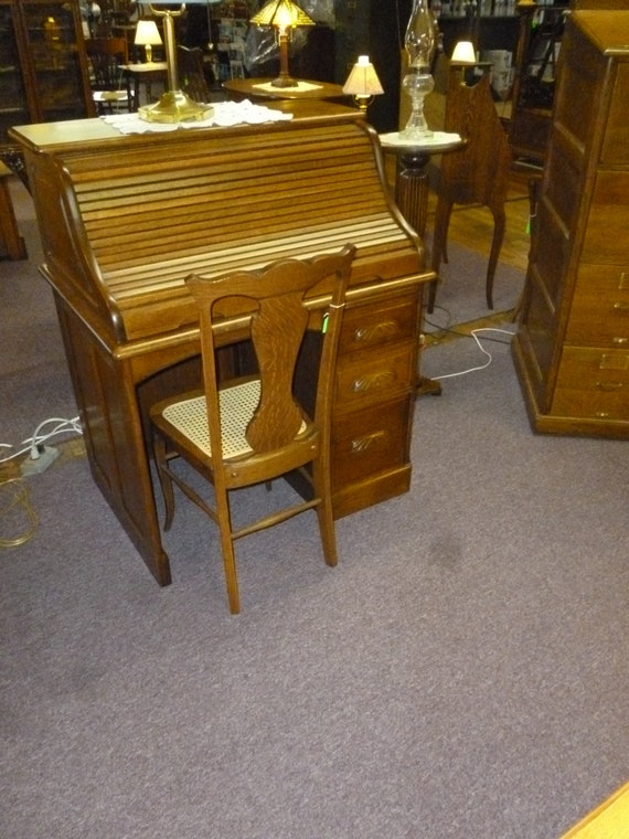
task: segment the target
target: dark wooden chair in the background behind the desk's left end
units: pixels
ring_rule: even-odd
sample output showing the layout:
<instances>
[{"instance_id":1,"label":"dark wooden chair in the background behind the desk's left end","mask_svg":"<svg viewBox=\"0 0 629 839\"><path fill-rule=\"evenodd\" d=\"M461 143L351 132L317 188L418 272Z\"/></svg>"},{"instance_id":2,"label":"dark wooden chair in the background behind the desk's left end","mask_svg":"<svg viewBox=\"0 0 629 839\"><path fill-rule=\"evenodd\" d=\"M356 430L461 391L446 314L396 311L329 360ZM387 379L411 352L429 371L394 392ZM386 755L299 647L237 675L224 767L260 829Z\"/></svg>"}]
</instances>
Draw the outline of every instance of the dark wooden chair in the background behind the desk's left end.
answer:
<instances>
[{"instance_id":1,"label":"dark wooden chair in the background behind the desk's left end","mask_svg":"<svg viewBox=\"0 0 629 839\"><path fill-rule=\"evenodd\" d=\"M92 95L98 114L134 110L130 86L122 78L121 64L128 64L126 38L88 38L85 41Z\"/></svg>"}]
</instances>

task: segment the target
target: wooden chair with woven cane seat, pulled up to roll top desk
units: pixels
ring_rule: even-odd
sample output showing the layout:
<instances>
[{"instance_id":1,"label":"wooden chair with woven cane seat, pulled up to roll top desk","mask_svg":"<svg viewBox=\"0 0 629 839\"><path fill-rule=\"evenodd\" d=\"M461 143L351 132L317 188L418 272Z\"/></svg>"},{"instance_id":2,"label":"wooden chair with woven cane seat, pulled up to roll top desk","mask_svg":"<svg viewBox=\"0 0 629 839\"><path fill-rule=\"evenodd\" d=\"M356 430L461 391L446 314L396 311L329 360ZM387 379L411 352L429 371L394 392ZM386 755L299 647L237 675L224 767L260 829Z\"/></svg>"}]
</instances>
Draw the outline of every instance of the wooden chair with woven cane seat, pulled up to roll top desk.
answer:
<instances>
[{"instance_id":1,"label":"wooden chair with woven cane seat, pulled up to roll top desk","mask_svg":"<svg viewBox=\"0 0 629 839\"><path fill-rule=\"evenodd\" d=\"M153 452L166 503L164 529L170 528L174 513L173 481L220 528L232 614L239 612L234 541L241 537L316 509L326 562L337 564L330 426L337 350L354 253L353 245L345 245L338 254L308 261L280 259L262 270L186 279L199 306L204 389L162 400L150 410ZM312 320L305 295L323 280L328 288L332 283L332 297L323 318L316 318L323 337L310 411L310 405L303 405L306 400L296 395L309 390L308 385L303 390L297 359ZM225 311L226 298L239 298L241 305L243 298L248 300L258 372L218 383L213 325L220 311ZM307 371L307 380L312 381L312 370ZM213 484L213 503L171 468L171 460L178 457ZM268 482L296 469L311 485L312 498L233 529L231 490Z\"/></svg>"}]
</instances>

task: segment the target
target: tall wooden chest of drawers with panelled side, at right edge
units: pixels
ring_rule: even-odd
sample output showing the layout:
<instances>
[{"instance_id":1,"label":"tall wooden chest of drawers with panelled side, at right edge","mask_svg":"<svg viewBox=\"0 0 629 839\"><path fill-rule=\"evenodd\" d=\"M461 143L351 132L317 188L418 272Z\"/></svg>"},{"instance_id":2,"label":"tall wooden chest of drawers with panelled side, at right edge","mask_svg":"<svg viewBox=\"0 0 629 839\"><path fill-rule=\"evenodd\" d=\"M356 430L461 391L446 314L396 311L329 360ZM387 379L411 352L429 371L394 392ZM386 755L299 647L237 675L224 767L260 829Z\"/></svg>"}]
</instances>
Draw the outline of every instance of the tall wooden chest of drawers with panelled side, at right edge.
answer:
<instances>
[{"instance_id":1,"label":"tall wooden chest of drawers with panelled side, at right edge","mask_svg":"<svg viewBox=\"0 0 629 839\"><path fill-rule=\"evenodd\" d=\"M629 437L629 11L566 23L515 364L535 431Z\"/></svg>"}]
</instances>

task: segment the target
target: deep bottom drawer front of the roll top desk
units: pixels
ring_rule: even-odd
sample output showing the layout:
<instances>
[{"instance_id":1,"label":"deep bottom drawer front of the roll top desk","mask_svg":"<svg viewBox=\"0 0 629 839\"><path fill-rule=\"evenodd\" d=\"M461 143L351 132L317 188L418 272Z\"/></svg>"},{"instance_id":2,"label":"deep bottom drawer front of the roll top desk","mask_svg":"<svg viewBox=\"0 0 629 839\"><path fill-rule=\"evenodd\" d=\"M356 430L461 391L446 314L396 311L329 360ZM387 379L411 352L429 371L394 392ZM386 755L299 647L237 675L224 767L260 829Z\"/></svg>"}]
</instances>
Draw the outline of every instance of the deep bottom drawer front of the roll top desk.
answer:
<instances>
[{"instance_id":1,"label":"deep bottom drawer front of the roll top desk","mask_svg":"<svg viewBox=\"0 0 629 839\"><path fill-rule=\"evenodd\" d=\"M369 475L408 463L413 400L385 402L334 423L332 486L342 487Z\"/></svg>"}]
</instances>

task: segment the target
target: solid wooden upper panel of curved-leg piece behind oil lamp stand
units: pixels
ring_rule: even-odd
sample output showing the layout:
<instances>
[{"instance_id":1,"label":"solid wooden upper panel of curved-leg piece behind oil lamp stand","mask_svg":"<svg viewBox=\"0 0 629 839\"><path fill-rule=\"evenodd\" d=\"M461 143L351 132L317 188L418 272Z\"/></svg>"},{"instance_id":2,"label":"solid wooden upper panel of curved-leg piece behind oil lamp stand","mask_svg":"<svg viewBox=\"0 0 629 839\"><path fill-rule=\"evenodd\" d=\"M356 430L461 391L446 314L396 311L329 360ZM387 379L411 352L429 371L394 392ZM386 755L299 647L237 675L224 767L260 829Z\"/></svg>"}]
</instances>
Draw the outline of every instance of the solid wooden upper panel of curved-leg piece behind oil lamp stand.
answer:
<instances>
[{"instance_id":1,"label":"solid wooden upper panel of curved-leg piece behind oil lamp stand","mask_svg":"<svg viewBox=\"0 0 629 839\"><path fill-rule=\"evenodd\" d=\"M470 86L458 72L450 71L445 130L460 134L468 142L462 151L444 155L440 191L458 204L491 206L504 201L512 153L488 73Z\"/></svg>"}]
</instances>

